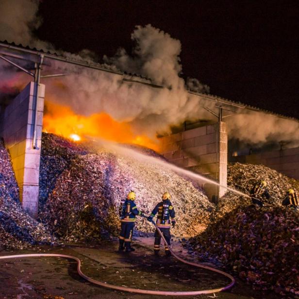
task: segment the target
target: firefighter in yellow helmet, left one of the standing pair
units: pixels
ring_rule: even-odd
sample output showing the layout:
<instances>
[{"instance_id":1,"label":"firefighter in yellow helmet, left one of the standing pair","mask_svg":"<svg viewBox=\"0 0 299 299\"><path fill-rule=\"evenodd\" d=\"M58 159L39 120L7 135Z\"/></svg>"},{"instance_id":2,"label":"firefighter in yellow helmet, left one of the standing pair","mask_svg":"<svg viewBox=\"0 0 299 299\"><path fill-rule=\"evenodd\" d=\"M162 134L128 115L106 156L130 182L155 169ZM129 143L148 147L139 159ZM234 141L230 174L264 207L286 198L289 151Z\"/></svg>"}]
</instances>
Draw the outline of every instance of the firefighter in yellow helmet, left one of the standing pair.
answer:
<instances>
[{"instance_id":1,"label":"firefighter in yellow helmet, left one of the standing pair","mask_svg":"<svg viewBox=\"0 0 299 299\"><path fill-rule=\"evenodd\" d=\"M135 193L131 191L129 192L127 199L123 201L119 207L121 229L119 234L118 250L124 250L126 248L126 252L135 250L133 247L131 247L133 228L135 225L136 216L143 215L143 213L137 209L134 200Z\"/></svg>"}]
</instances>

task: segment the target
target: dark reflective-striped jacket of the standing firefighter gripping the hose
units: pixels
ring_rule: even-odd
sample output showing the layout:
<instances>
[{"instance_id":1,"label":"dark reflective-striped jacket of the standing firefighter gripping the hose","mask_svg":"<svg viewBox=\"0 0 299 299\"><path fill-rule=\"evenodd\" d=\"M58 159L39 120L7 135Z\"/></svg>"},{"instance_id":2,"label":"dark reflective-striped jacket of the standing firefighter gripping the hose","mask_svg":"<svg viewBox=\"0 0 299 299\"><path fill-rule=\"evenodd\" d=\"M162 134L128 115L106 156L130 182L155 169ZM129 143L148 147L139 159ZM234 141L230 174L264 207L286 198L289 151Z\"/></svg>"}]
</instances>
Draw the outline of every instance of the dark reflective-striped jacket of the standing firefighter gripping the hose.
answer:
<instances>
[{"instance_id":1,"label":"dark reflective-striped jacket of the standing firefighter gripping the hose","mask_svg":"<svg viewBox=\"0 0 299 299\"><path fill-rule=\"evenodd\" d=\"M171 221L175 221L175 212L170 200L166 199L160 201L152 210L149 218L152 219L157 213L157 226L159 228L170 228L170 218Z\"/></svg>"}]
</instances>

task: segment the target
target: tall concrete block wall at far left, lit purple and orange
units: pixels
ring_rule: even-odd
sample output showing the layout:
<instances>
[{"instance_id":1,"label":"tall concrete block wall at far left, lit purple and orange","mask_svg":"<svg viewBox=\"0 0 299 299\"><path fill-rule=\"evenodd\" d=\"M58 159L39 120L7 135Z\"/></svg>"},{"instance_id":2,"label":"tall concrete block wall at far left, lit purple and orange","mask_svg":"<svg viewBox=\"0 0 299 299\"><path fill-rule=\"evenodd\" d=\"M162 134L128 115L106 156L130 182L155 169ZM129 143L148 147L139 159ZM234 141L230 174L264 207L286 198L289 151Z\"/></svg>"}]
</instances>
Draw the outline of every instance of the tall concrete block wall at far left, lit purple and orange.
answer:
<instances>
[{"instance_id":1,"label":"tall concrete block wall at far left, lit purple and orange","mask_svg":"<svg viewBox=\"0 0 299 299\"><path fill-rule=\"evenodd\" d=\"M31 216L36 217L45 85L40 84L39 88L36 150L33 150L34 86L35 83L29 83L2 112L0 137L4 139L12 158L22 206Z\"/></svg>"}]
</instances>

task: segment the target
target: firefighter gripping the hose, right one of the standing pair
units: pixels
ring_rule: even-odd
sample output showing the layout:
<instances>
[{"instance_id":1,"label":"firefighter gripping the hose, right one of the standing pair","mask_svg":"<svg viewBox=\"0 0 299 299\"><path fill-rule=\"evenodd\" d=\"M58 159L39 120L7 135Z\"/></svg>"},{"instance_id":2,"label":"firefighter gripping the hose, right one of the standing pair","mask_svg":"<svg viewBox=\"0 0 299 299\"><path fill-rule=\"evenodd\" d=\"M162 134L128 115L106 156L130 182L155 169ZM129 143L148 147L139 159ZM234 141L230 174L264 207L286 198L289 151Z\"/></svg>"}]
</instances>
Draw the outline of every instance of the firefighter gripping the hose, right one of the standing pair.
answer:
<instances>
[{"instance_id":1,"label":"firefighter gripping the hose, right one of the standing pair","mask_svg":"<svg viewBox=\"0 0 299 299\"><path fill-rule=\"evenodd\" d=\"M150 216L148 217L149 221L152 221L153 217L157 214L157 226L160 231L163 233L166 242L170 245L170 226L175 226L175 212L174 208L170 202L170 194L165 192L162 196L162 201L160 201L155 208L152 210ZM170 224L171 218L171 224ZM158 254L160 250L161 236L158 233L158 230L155 231L155 242L154 242L154 253ZM165 244L165 254L170 255L170 251Z\"/></svg>"}]
</instances>

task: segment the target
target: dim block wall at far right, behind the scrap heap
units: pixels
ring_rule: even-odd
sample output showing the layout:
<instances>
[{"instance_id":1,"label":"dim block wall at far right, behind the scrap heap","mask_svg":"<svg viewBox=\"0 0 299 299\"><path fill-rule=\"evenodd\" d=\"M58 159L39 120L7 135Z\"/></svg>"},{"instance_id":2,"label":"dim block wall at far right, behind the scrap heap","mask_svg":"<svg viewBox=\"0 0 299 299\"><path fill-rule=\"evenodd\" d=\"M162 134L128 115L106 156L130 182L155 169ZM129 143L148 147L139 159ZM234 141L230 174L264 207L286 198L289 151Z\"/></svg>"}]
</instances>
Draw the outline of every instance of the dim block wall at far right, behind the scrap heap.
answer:
<instances>
[{"instance_id":1,"label":"dim block wall at far right, behind the scrap heap","mask_svg":"<svg viewBox=\"0 0 299 299\"><path fill-rule=\"evenodd\" d=\"M266 151L258 154L230 157L231 162L263 164L299 180L299 148Z\"/></svg>"}]
</instances>

